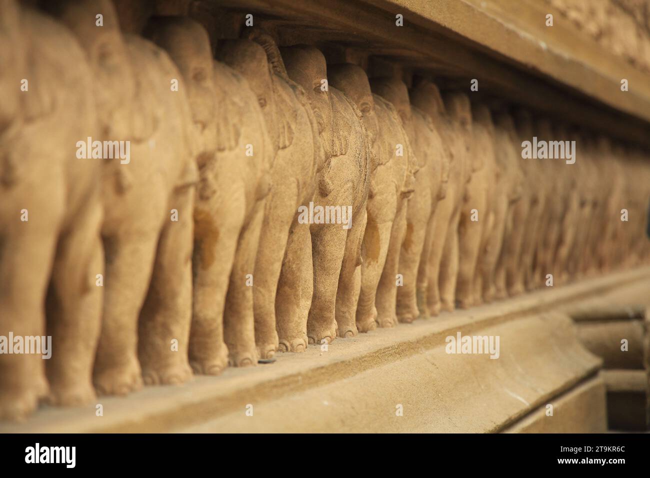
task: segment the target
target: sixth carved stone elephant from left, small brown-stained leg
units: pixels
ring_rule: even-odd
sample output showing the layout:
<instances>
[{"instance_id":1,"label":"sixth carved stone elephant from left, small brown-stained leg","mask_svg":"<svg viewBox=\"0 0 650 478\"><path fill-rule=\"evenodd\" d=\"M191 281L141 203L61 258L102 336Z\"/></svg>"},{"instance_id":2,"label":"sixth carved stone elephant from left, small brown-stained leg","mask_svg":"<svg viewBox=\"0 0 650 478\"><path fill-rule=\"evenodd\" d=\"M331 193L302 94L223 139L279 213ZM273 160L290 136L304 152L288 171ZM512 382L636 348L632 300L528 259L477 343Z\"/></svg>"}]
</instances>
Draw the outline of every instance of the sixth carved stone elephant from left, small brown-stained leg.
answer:
<instances>
[{"instance_id":1,"label":"sixth carved stone elephant from left, small brown-stained leg","mask_svg":"<svg viewBox=\"0 0 650 478\"><path fill-rule=\"evenodd\" d=\"M367 224L361 248L360 332L396 324L396 274L406 232L406 199L413 189L415 157L395 107L372 94L366 73L354 64L328 66L330 85L354 101L372 144Z\"/></svg>"}]
</instances>

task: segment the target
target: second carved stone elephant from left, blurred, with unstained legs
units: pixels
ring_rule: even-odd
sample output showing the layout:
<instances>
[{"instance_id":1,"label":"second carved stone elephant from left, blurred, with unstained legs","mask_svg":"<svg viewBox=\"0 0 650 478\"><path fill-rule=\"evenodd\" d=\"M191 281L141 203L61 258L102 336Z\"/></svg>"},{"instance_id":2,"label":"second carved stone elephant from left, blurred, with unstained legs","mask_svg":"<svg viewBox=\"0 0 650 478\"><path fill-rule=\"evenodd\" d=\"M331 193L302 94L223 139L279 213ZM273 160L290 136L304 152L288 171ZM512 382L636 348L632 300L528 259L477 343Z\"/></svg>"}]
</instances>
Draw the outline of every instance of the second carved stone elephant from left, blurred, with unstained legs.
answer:
<instances>
[{"instance_id":1,"label":"second carved stone elephant from left, blurred, with unstained legs","mask_svg":"<svg viewBox=\"0 0 650 478\"><path fill-rule=\"evenodd\" d=\"M125 394L191 375L192 212L198 178L185 85L164 51L120 33L108 0L47 3L90 62L99 140L125 141L103 166L105 299L94 384ZM103 27L95 25L97 12ZM164 81L161 81L164 79ZM173 88L177 81L177 90ZM126 143L125 143L126 144Z\"/></svg>"}]
</instances>

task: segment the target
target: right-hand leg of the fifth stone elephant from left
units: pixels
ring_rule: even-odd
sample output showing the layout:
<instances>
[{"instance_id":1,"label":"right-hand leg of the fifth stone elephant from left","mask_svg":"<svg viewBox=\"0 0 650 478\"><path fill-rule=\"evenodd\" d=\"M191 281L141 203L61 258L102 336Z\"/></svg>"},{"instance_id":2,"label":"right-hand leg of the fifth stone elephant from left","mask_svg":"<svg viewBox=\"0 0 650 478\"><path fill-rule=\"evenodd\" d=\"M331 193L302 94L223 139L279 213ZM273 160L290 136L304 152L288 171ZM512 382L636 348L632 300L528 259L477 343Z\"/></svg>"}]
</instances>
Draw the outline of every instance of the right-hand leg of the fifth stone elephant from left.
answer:
<instances>
[{"instance_id":1,"label":"right-hand leg of the fifth stone elephant from left","mask_svg":"<svg viewBox=\"0 0 650 478\"><path fill-rule=\"evenodd\" d=\"M361 290L361 243L365 232L368 214L360 211L357 219L348 230L345 252L341 261L339 285L336 291L336 325L337 334L342 338L351 338L357 334L356 311Z\"/></svg>"}]
</instances>

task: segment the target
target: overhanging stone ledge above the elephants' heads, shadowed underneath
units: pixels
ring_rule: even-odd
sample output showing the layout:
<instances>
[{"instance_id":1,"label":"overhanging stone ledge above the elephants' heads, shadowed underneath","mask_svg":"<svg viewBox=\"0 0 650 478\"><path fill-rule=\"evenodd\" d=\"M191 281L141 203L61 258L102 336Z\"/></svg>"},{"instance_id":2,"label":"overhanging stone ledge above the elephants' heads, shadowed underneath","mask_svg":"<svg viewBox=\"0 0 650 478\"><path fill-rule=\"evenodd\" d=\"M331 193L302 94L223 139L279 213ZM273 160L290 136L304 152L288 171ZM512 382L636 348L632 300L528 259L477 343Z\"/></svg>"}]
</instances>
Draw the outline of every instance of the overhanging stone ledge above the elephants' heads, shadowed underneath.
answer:
<instances>
[{"instance_id":1,"label":"overhanging stone ledge above the elephants' heads, shadowed underneath","mask_svg":"<svg viewBox=\"0 0 650 478\"><path fill-rule=\"evenodd\" d=\"M406 69L460 81L467 88L469 79L480 79L476 95L506 98L650 145L648 75L601 54L601 48L588 39L574 41L567 53L558 46L575 33L571 36L561 25L551 33L540 30L532 25L530 12L519 18L510 12L512 8L502 7L503 1L205 1L271 18L285 30L287 35L281 38L291 40L286 44L336 42L395 60ZM538 6L537 10L545 9ZM397 33L398 13L404 15L405 27ZM539 14L543 24L544 16ZM629 79L634 90L621 92L621 78Z\"/></svg>"}]
</instances>

